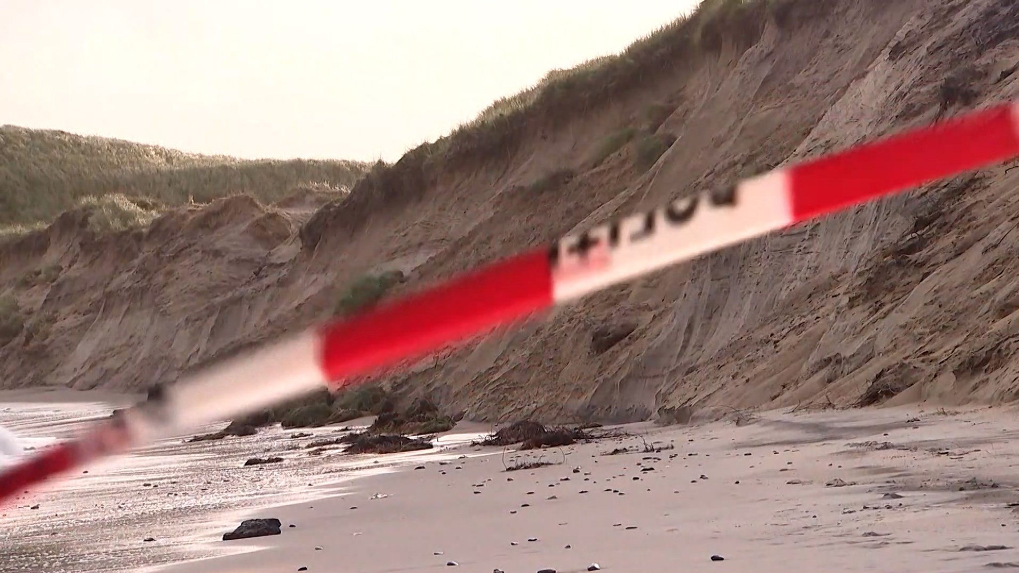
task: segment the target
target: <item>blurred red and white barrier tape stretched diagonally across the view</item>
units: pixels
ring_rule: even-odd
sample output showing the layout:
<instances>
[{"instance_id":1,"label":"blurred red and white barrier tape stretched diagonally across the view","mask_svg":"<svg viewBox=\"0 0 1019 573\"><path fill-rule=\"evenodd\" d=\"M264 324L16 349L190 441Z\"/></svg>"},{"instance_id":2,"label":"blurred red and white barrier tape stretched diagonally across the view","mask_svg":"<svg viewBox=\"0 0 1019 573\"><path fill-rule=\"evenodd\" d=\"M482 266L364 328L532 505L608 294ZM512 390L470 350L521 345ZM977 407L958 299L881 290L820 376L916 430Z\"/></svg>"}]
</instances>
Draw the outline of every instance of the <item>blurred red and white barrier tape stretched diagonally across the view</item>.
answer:
<instances>
[{"instance_id":1,"label":"blurred red and white barrier tape stretched diagonally across the view","mask_svg":"<svg viewBox=\"0 0 1019 573\"><path fill-rule=\"evenodd\" d=\"M153 393L78 439L0 473L0 503L58 474L371 373L556 304L884 195L1019 156L1003 104L567 237Z\"/></svg>"}]
</instances>

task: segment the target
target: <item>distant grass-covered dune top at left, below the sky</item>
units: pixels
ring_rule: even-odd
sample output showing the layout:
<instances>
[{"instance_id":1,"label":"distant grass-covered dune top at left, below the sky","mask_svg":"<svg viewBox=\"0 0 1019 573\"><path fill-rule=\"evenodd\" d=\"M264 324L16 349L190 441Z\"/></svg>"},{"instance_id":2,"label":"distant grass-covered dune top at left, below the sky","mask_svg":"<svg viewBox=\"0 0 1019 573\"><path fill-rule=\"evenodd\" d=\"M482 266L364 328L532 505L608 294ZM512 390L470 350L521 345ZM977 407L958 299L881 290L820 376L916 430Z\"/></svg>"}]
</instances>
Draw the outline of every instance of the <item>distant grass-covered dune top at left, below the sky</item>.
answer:
<instances>
[{"instance_id":1,"label":"distant grass-covered dune top at left, below the sky","mask_svg":"<svg viewBox=\"0 0 1019 573\"><path fill-rule=\"evenodd\" d=\"M367 168L352 161L249 161L3 125L0 227L31 228L79 206L122 212L111 228L143 224L189 200L248 193L271 203L311 183L350 188Z\"/></svg>"}]
</instances>

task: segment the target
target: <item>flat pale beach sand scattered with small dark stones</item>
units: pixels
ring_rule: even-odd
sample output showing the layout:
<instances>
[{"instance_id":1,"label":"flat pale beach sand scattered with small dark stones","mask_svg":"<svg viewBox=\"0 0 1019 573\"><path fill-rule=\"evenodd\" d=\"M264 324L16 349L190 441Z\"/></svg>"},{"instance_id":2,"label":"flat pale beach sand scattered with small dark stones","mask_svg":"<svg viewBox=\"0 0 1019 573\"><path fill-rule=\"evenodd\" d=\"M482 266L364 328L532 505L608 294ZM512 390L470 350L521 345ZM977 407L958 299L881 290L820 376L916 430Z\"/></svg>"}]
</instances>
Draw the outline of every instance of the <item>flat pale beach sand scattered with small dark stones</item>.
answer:
<instances>
[{"instance_id":1,"label":"flat pale beach sand scattered with small dark stones","mask_svg":"<svg viewBox=\"0 0 1019 573\"><path fill-rule=\"evenodd\" d=\"M465 448L467 458L446 465L257 512L251 517L282 520L283 533L229 544L262 551L164 573L439 571L448 561L509 573L592 563L764 573L1019 564L1008 506L1019 501L1011 410L773 412L741 426L627 429L675 449L641 453L642 439L631 436L521 453L552 461L565 453L566 463L505 472L500 450ZM602 455L623 446L637 451Z\"/></svg>"}]
</instances>

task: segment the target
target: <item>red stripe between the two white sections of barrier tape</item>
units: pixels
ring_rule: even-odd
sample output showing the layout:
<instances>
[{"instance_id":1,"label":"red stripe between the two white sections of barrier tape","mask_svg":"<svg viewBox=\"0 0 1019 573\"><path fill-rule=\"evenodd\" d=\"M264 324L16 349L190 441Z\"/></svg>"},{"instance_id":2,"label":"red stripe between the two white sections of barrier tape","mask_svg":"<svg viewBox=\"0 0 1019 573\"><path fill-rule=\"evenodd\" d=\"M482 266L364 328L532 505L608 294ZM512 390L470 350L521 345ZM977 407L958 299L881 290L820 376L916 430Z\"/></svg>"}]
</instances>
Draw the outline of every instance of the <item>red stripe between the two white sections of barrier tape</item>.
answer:
<instances>
[{"instance_id":1,"label":"red stripe between the two white sections of barrier tape","mask_svg":"<svg viewBox=\"0 0 1019 573\"><path fill-rule=\"evenodd\" d=\"M551 305L548 251L525 253L325 326L322 370L329 380L364 374Z\"/></svg>"}]
</instances>

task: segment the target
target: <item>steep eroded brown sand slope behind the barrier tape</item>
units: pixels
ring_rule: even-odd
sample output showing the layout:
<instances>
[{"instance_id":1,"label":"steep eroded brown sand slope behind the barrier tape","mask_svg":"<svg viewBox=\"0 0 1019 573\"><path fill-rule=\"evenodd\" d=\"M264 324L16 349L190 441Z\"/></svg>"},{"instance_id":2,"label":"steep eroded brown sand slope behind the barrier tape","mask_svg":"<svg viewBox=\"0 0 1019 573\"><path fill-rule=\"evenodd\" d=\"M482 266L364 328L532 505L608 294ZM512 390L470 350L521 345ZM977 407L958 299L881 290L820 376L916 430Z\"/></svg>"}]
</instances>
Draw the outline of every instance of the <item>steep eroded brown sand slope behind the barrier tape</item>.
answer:
<instances>
[{"instance_id":1,"label":"steep eroded brown sand slope behind the barrier tape","mask_svg":"<svg viewBox=\"0 0 1019 573\"><path fill-rule=\"evenodd\" d=\"M388 200L181 210L95 237L79 213L0 246L0 283L45 327L0 348L0 384L139 388L329 314L344 281L400 268L401 291L693 190L929 122L947 79L969 107L1016 96L1011 0L797 0L759 37L720 44L577 111L554 131ZM955 80L953 80L955 81ZM650 169L606 136L650 109L677 142ZM583 112L582 112L583 111ZM562 189L529 189L550 171ZM1019 332L1019 171L987 169L728 249L591 297L387 381L468 419L871 400L1011 401ZM309 206L311 205L311 206ZM58 264L55 280L25 279ZM599 329L633 328L598 353ZM872 388L869 395L868 388ZM876 392L880 390L880 392ZM895 402L893 402L894 404Z\"/></svg>"}]
</instances>

